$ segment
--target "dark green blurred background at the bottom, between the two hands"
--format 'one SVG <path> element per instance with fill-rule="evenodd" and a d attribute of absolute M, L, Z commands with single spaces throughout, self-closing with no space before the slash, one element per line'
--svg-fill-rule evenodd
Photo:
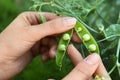
<path fill-rule="evenodd" d="M 40 56 L 36 57 L 31 64 L 21 74 L 13 80 L 61 80 L 73 68 L 68 58 L 63 61 L 64 66 L 60 70 L 56 66 L 55 60 L 42 62 Z"/>

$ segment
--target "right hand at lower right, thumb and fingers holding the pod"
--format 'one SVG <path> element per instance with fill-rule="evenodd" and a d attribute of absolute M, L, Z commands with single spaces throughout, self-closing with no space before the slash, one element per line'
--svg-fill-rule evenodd
<path fill-rule="evenodd" d="M 111 80 L 98 54 L 94 53 L 83 59 L 72 44 L 68 46 L 67 52 L 75 68 L 62 80 L 93 80 L 92 76 L 98 74 L 103 74 L 109 78 L 107 80 Z"/>

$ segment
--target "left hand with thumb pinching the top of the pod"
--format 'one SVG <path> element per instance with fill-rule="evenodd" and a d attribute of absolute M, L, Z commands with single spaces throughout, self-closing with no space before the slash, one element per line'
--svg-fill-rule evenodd
<path fill-rule="evenodd" d="M 45 37 L 68 31 L 76 23 L 71 17 L 58 17 L 52 13 L 42 15 L 47 19 L 43 24 L 37 12 L 22 13 L 0 34 L 0 80 L 18 74 L 39 53 L 46 60 L 56 42 L 54 36 Z M 45 40 L 53 43 L 46 45 Z"/>

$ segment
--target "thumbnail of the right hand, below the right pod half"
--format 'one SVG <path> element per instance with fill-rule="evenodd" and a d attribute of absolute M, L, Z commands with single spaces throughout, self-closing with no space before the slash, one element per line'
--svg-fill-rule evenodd
<path fill-rule="evenodd" d="M 85 61 L 88 63 L 88 64 L 96 64 L 98 62 L 98 60 L 100 59 L 99 55 L 94 53 L 94 54 L 91 54 L 89 55 Z"/>

